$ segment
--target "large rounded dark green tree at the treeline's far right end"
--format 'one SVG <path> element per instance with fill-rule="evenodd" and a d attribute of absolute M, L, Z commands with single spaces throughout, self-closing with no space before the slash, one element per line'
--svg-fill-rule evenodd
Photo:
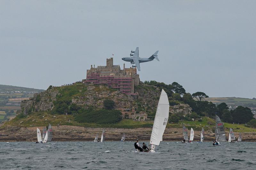
<path fill-rule="evenodd" d="M 231 111 L 234 123 L 247 123 L 253 119 L 253 114 L 250 108 L 238 106 L 235 110 Z"/>

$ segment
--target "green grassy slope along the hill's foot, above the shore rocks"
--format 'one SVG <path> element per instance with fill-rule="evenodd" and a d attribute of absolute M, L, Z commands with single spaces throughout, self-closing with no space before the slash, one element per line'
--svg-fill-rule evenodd
<path fill-rule="evenodd" d="M 43 117 L 44 116 L 44 117 Z M 56 116 L 56 117 L 54 117 Z M 45 120 L 47 119 L 47 120 Z M 20 123 L 21 122 L 21 123 Z M 22 126 L 22 127 L 35 127 L 35 126 L 46 126 L 49 123 L 52 125 L 72 125 L 72 126 L 82 126 L 82 127 L 91 127 L 91 128 L 151 128 L 153 126 L 153 121 L 133 121 L 128 119 L 123 119 L 115 124 L 96 124 L 96 123 L 77 123 L 74 121 L 73 115 L 59 115 L 59 114 L 49 114 L 47 112 L 37 112 L 32 113 L 29 117 L 24 118 L 14 118 L 11 121 L 8 121 L 4 126 Z M 167 124 L 167 128 L 182 128 L 182 124 L 190 129 L 201 130 L 204 128 L 208 130 L 210 128 L 214 129 L 215 120 L 203 117 L 203 121 L 179 121 L 179 124 Z M 210 127 L 205 127 L 210 126 Z M 225 131 L 229 131 L 229 128 L 233 128 L 234 132 L 252 132 L 253 128 L 247 128 L 244 124 L 230 124 L 225 123 Z M 236 129 L 239 128 L 239 129 Z"/>

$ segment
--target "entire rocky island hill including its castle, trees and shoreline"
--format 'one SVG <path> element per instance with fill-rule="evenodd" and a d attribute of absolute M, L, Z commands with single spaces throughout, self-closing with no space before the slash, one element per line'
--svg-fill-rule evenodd
<path fill-rule="evenodd" d="M 229 111 L 225 103 L 216 106 L 203 101 L 208 97 L 203 92 L 186 93 L 177 82 L 169 85 L 156 81 L 143 83 L 136 68 L 124 65 L 121 69 L 109 58 L 106 66 L 91 65 L 83 81 L 49 86 L 44 92 L 23 100 L 17 116 L 0 127 L 0 141 L 36 140 L 36 128 L 42 131 L 49 123 L 53 126 L 53 141 L 91 141 L 103 128 L 106 128 L 106 140 L 120 140 L 123 133 L 127 140 L 149 140 L 162 89 L 170 103 L 165 140 L 183 139 L 182 125 L 185 124 L 188 129 L 194 129 L 195 140 L 204 128 L 205 139 L 212 141 L 215 113 L 227 122 L 227 134 L 229 128 L 233 128 L 235 134 L 245 133 L 244 140 L 256 139 L 256 122 L 249 108 L 239 106 Z"/>

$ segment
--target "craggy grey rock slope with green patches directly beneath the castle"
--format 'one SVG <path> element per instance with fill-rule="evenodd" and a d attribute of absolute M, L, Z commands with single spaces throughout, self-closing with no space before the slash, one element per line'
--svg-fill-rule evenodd
<path fill-rule="evenodd" d="M 54 101 L 61 97 L 71 101 L 71 104 L 83 107 L 103 107 L 103 101 L 110 99 L 115 102 L 116 108 L 137 107 L 137 102 L 146 104 L 148 108 L 155 109 L 160 90 L 155 86 L 140 83 L 135 88 L 136 96 L 126 95 L 118 90 L 110 89 L 104 85 L 73 84 L 69 86 L 51 87 L 44 92 L 34 94 L 34 97 L 21 102 L 21 112 L 26 115 L 31 112 L 51 111 Z M 67 95 L 68 94 L 68 95 Z M 152 110 L 153 110 L 152 109 Z"/>

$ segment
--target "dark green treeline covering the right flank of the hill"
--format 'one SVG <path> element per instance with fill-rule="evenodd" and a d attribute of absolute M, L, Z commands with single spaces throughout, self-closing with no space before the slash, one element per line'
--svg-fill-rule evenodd
<path fill-rule="evenodd" d="M 192 118 L 196 119 L 200 116 L 208 116 L 215 119 L 215 114 L 220 116 L 225 122 L 228 123 L 247 123 L 253 126 L 253 114 L 250 108 L 238 106 L 235 110 L 228 110 L 228 105 L 226 103 L 221 103 L 219 105 L 215 105 L 212 102 L 203 101 L 202 99 L 208 98 L 204 92 L 195 92 L 192 95 L 190 93 L 186 93 L 186 90 L 177 82 L 173 82 L 172 84 L 165 84 L 163 82 L 157 81 L 145 81 L 145 84 L 154 85 L 158 87 L 160 90 L 164 89 L 164 91 L 168 95 L 170 105 L 177 104 L 189 104 L 192 108 L 192 114 L 183 116 L 182 114 L 170 115 L 171 122 L 178 122 L 178 120 L 191 120 Z M 196 100 L 194 100 L 194 98 Z M 252 120 L 252 122 L 251 122 Z M 256 121 L 256 120 L 255 120 Z"/>

